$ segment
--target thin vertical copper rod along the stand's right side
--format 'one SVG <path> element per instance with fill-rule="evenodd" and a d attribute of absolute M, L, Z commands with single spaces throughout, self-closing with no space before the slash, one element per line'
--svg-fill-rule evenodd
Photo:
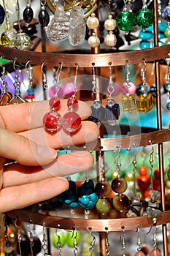
<path fill-rule="evenodd" d="M 154 0 L 154 46 L 158 46 L 158 0 Z M 159 61 L 155 61 L 155 86 L 157 89 L 157 126 L 158 129 L 162 129 L 162 113 L 161 113 L 161 81 L 160 81 L 160 64 Z M 164 182 L 164 167 L 163 167 L 163 143 L 158 143 L 159 154 L 159 170 L 160 170 L 160 182 L 161 182 L 161 205 L 162 211 L 166 210 L 166 197 L 165 197 L 165 182 Z M 167 246 L 167 227 L 162 225 L 163 233 L 163 254 L 168 256 Z"/>

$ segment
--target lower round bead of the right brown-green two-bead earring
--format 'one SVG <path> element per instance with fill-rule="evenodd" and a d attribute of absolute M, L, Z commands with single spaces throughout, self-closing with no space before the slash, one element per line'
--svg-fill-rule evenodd
<path fill-rule="evenodd" d="M 124 211 L 128 208 L 128 197 L 124 194 L 115 195 L 112 203 L 117 211 Z"/>

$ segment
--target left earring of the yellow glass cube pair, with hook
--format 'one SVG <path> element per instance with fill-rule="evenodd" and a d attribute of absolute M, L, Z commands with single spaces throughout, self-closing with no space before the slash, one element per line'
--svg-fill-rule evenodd
<path fill-rule="evenodd" d="M 130 69 L 129 69 L 128 61 L 125 61 L 125 69 L 126 69 L 125 82 L 126 82 L 127 93 L 122 97 L 122 105 L 123 105 L 124 111 L 128 111 L 129 113 L 131 113 L 132 110 L 136 110 L 136 101 L 135 101 L 134 94 L 129 94 L 129 88 L 131 87 L 131 84 L 130 84 Z"/>

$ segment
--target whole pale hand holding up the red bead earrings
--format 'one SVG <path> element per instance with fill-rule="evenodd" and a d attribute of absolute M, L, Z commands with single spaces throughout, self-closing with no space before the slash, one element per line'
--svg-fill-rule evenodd
<path fill-rule="evenodd" d="M 82 118 L 82 126 L 72 136 L 63 129 L 55 134 L 45 132 L 42 118 L 49 110 L 46 101 L 0 107 L 1 213 L 55 197 L 68 189 L 66 176 L 93 167 L 93 156 L 80 147 L 74 153 L 58 156 L 56 151 L 88 142 L 96 146 L 98 127 L 83 121 L 90 115 L 88 105 L 79 102 L 77 113 Z M 66 111 L 63 99 L 58 112 L 63 116 Z"/>

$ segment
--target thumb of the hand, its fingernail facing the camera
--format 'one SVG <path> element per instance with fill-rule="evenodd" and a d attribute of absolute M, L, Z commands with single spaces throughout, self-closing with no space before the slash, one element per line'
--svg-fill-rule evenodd
<path fill-rule="evenodd" d="M 37 145 L 28 138 L 0 128 L 0 156 L 23 165 L 46 165 L 57 157 L 53 148 Z"/>

